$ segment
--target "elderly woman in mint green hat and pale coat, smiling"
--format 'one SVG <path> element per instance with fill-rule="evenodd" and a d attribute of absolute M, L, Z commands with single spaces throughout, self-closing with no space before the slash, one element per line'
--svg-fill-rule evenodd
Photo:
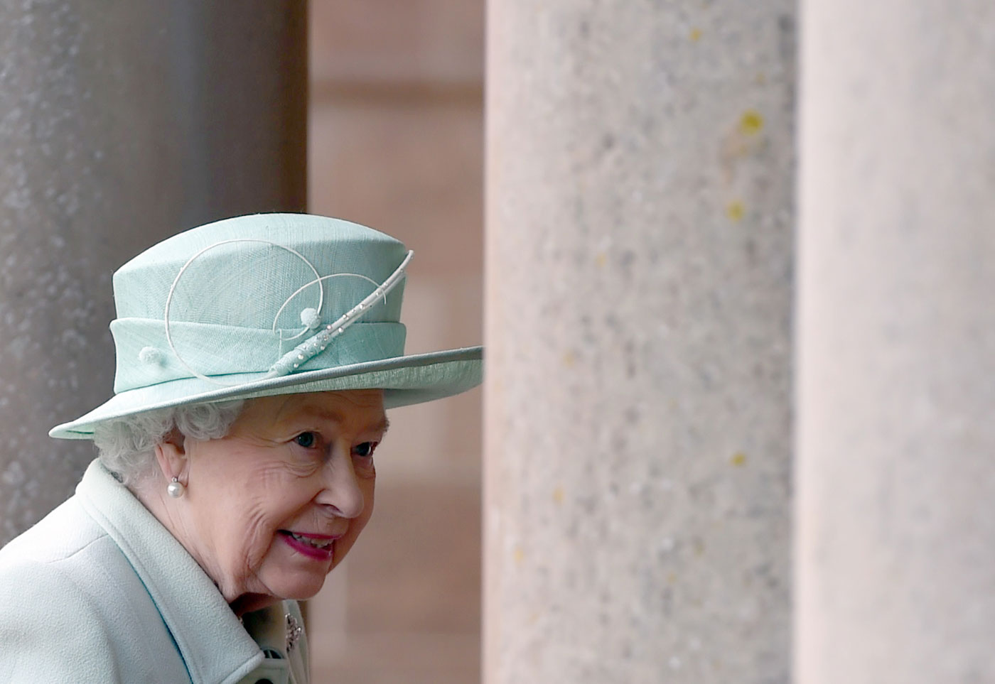
<path fill-rule="evenodd" d="M 100 458 L 0 551 L 0 679 L 308 680 L 296 601 L 370 517 L 384 410 L 480 382 L 480 348 L 404 356 L 410 258 L 276 214 L 114 274 L 114 397 L 51 432 Z"/>

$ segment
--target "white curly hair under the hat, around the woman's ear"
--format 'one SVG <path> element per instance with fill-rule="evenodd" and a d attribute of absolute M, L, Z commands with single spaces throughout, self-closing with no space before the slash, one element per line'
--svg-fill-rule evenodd
<path fill-rule="evenodd" d="M 155 445 L 174 429 L 194 439 L 218 439 L 228 434 L 244 405 L 243 400 L 189 404 L 101 423 L 94 428 L 100 462 L 124 484 L 137 484 L 154 472 Z"/>

